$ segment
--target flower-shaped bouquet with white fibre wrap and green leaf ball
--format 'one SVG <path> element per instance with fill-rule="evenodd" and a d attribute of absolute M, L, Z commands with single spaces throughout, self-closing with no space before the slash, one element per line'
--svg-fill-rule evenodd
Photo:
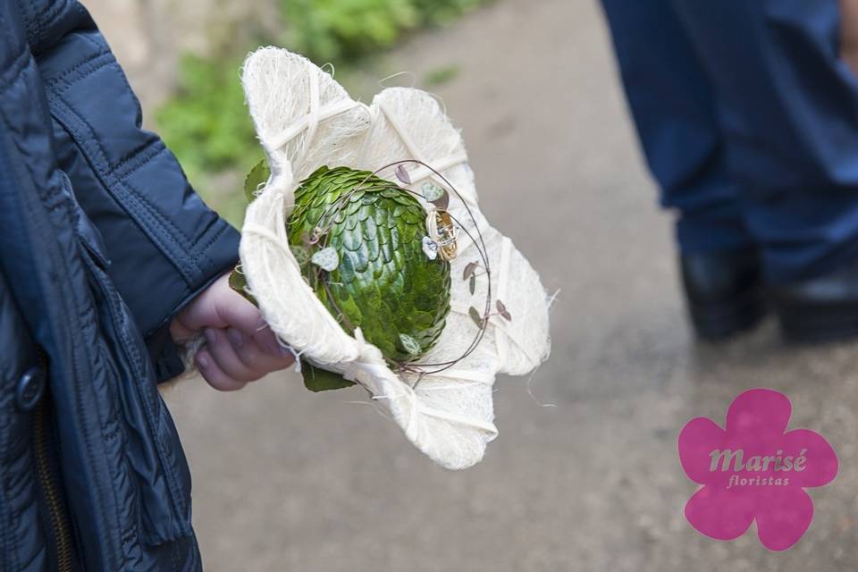
<path fill-rule="evenodd" d="M 495 376 L 549 355 L 549 299 L 480 212 L 458 130 L 425 92 L 365 105 L 284 49 L 249 55 L 242 82 L 266 158 L 233 288 L 307 388 L 360 385 L 436 463 L 474 465 L 497 435 Z"/>

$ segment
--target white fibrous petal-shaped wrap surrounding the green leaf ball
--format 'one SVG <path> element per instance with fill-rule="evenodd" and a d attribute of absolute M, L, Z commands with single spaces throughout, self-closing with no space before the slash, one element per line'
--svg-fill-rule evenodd
<path fill-rule="evenodd" d="M 495 375 L 526 374 L 551 349 L 548 307 L 539 276 L 512 241 L 493 229 L 479 211 L 474 173 L 458 130 L 430 95 L 412 88 L 389 88 L 372 105 L 353 101 L 332 77 L 300 55 L 264 47 L 248 56 L 242 82 L 250 115 L 265 148 L 271 178 L 248 206 L 240 255 L 248 288 L 281 340 L 311 363 L 344 374 L 372 393 L 408 440 L 442 467 L 470 467 L 483 458 L 497 435 L 493 425 Z M 483 233 L 492 268 L 492 308 L 501 299 L 512 322 L 489 318 L 484 339 L 455 366 L 438 374 L 397 374 L 358 329 L 345 332 L 300 273 L 286 236 L 295 189 L 322 165 L 375 171 L 404 159 L 417 159 L 441 172 L 463 200 L 450 193 L 448 211 L 476 237 L 474 215 Z M 419 192 L 424 181 L 447 188 L 431 170 L 406 164 Z M 393 168 L 380 172 L 396 181 Z M 422 204 L 433 211 L 432 204 Z M 461 356 L 478 327 L 468 308 L 484 307 L 486 280 L 475 293 L 461 279 L 465 266 L 479 260 L 465 232 L 458 257 L 450 263 L 450 315 L 438 343 L 424 363 Z"/>

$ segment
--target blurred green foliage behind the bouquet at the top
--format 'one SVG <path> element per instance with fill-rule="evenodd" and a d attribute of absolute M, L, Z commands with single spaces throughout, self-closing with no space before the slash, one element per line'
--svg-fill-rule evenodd
<path fill-rule="evenodd" d="M 186 55 L 174 97 L 156 111 L 157 128 L 190 181 L 211 206 L 239 225 L 244 200 L 223 187 L 221 173 L 247 172 L 261 156 L 239 81 L 241 60 L 258 45 L 277 44 L 315 63 L 334 63 L 338 77 L 394 46 L 409 31 L 443 25 L 487 0 L 269 0 L 282 18 L 279 37 L 253 46 L 229 41 L 216 54 Z M 445 70 L 451 79 L 455 69 Z M 232 177 L 235 181 L 238 178 Z M 225 177 L 229 186 L 231 178 Z M 238 189 L 238 186 L 236 186 Z"/>

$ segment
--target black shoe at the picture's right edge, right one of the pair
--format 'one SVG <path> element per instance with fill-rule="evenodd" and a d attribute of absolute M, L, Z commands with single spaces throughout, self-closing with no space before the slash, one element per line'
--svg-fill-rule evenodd
<path fill-rule="evenodd" d="M 858 336 L 858 264 L 787 285 L 771 299 L 788 341 L 837 341 Z"/>

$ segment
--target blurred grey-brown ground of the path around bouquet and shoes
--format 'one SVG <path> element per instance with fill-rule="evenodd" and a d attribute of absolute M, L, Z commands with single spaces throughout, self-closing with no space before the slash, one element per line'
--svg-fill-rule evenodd
<path fill-rule="evenodd" d="M 109 32 L 109 30 L 108 30 Z M 313 572 L 833 572 L 858 567 L 858 348 L 792 349 L 766 324 L 722 348 L 684 322 L 669 220 L 653 206 L 594 2 L 501 0 L 415 38 L 392 69 L 458 64 L 437 88 L 484 211 L 551 289 L 551 361 L 497 383 L 501 434 L 462 473 L 433 465 L 359 391 L 298 374 L 238 394 L 168 395 L 195 476 L 206 568 Z M 677 433 L 744 389 L 793 400 L 840 475 L 810 531 L 771 553 L 686 524 Z M 555 407 L 542 407 L 551 404 Z"/>

